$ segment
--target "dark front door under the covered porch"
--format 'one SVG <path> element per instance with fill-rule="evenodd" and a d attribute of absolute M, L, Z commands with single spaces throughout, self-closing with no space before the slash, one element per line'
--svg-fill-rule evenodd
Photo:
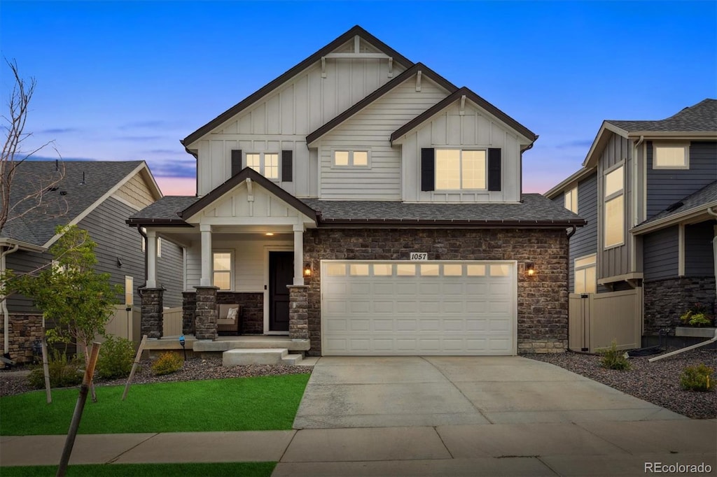
<path fill-rule="evenodd" d="M 289 289 L 294 252 L 269 252 L 269 331 L 289 331 Z"/>

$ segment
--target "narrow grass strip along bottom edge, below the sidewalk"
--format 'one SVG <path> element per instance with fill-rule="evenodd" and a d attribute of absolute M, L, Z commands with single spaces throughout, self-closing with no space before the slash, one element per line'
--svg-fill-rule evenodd
<path fill-rule="evenodd" d="M 67 466 L 68 477 L 95 476 L 242 476 L 269 477 L 275 462 L 172 463 L 172 464 L 93 464 Z M 3 477 L 54 476 L 57 466 L 3 467 Z"/>

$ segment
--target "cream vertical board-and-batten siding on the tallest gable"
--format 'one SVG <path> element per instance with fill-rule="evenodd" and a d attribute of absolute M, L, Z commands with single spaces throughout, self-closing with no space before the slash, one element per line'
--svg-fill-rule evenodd
<path fill-rule="evenodd" d="M 336 52 L 353 48 L 353 40 Z M 361 52 L 376 49 L 361 40 Z M 326 77 L 320 62 L 297 74 L 247 110 L 227 120 L 197 141 L 199 196 L 231 176 L 231 150 L 246 153 L 294 151 L 294 180 L 280 186 L 297 197 L 318 196 L 317 163 L 306 148 L 305 137 L 405 70 L 376 58 L 326 59 Z M 244 162 L 245 165 L 245 162 Z"/>

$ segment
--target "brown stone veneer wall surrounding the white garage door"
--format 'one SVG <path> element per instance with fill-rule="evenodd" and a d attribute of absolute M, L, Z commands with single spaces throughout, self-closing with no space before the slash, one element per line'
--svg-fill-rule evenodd
<path fill-rule="evenodd" d="M 304 234 L 310 356 L 321 354 L 321 260 L 518 261 L 518 353 L 564 352 L 568 342 L 568 239 L 564 229 L 312 229 Z M 523 264 L 533 261 L 536 276 Z"/>

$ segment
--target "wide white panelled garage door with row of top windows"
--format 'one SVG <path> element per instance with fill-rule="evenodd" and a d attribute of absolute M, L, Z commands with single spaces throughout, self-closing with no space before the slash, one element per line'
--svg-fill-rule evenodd
<path fill-rule="evenodd" d="M 323 355 L 515 355 L 515 261 L 321 262 Z"/>

